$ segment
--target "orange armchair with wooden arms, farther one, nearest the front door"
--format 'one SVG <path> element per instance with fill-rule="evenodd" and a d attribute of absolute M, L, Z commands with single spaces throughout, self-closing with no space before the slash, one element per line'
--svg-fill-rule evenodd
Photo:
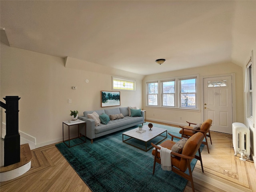
<path fill-rule="evenodd" d="M 209 151 L 209 146 L 208 146 L 208 142 L 207 142 L 207 137 L 210 138 L 211 144 L 212 144 L 212 138 L 211 138 L 211 134 L 210 134 L 210 127 L 212 126 L 212 120 L 211 119 L 207 119 L 206 121 L 204 121 L 200 127 L 200 130 L 194 130 L 192 126 L 190 126 L 191 124 L 196 125 L 195 123 L 190 123 L 187 122 L 188 126 L 180 126 L 180 128 L 182 128 L 180 130 L 180 134 L 183 138 L 190 138 L 192 135 L 194 135 L 194 132 L 201 132 L 204 134 L 204 138 L 205 141 L 202 142 L 202 144 L 207 146 L 207 150 L 208 153 L 210 153 Z M 194 132 L 193 132 L 194 131 Z"/>

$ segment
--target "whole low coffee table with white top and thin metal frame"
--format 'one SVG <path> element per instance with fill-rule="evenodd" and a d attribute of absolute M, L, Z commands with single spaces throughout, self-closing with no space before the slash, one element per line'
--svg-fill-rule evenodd
<path fill-rule="evenodd" d="M 150 149 L 153 148 L 153 146 L 151 147 L 147 147 L 147 143 L 160 136 L 160 137 L 163 137 L 162 140 L 158 141 L 157 143 L 154 143 L 154 144 L 159 144 L 160 142 L 162 142 L 163 140 L 165 140 L 167 138 L 167 129 L 163 129 L 163 128 L 158 128 L 158 127 L 153 127 L 152 130 L 149 130 L 148 126 L 147 125 L 144 125 L 143 130 L 145 130 L 145 132 L 136 132 L 136 130 L 139 130 L 139 128 L 135 128 L 135 129 L 132 129 L 132 130 L 129 130 L 129 131 L 126 131 L 126 132 L 123 132 L 122 135 L 123 135 L 123 142 L 128 144 L 128 145 L 131 145 L 133 147 L 136 147 L 140 150 L 143 150 L 143 151 L 148 151 Z M 164 135 L 162 135 L 164 134 Z M 128 139 L 125 139 L 124 140 L 124 136 L 128 136 Z M 140 140 L 142 142 L 145 143 L 145 148 L 141 148 L 139 146 L 136 146 L 134 142 L 127 142 L 128 140 L 130 139 L 136 139 L 136 140 Z"/>

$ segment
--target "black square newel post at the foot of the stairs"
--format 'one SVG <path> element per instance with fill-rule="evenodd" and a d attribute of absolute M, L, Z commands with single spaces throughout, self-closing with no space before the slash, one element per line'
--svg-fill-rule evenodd
<path fill-rule="evenodd" d="M 4 166 L 20 162 L 19 100 L 6 96 L 6 136 L 4 137 Z"/>

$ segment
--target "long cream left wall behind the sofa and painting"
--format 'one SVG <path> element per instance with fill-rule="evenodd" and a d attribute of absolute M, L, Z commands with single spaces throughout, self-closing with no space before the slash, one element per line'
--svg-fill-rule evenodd
<path fill-rule="evenodd" d="M 142 75 L 86 62 L 81 65 L 81 61 L 78 65 L 72 59 L 65 67 L 64 58 L 2 43 L 0 61 L 1 101 L 5 96 L 21 97 L 19 130 L 36 138 L 36 148 L 62 141 L 62 122 L 70 120 L 70 110 L 78 110 L 82 116 L 85 110 L 101 109 L 100 91 L 112 90 L 112 75 L 136 80 L 135 92 L 121 91 L 121 107 L 142 106 Z"/>

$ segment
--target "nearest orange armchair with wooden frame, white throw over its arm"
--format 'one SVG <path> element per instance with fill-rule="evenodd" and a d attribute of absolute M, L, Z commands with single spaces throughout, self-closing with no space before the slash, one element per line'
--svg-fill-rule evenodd
<path fill-rule="evenodd" d="M 174 144 L 176 144 L 173 141 L 173 138 L 174 137 L 179 138 L 179 139 L 182 139 L 182 138 L 174 136 L 170 133 L 168 133 L 168 134 L 170 136 L 172 136 L 172 140 L 166 140 L 165 142 L 163 142 L 160 145 L 162 147 L 165 147 L 165 148 L 168 148 L 171 150 L 172 146 Z M 171 162 L 172 162 L 172 171 L 175 172 L 176 174 L 182 176 L 186 180 L 189 180 L 191 182 L 193 192 L 195 190 L 194 190 L 194 182 L 193 182 L 193 178 L 192 178 L 192 170 L 191 170 L 190 163 L 191 163 L 192 159 L 194 159 L 194 158 L 200 160 L 202 172 L 204 172 L 202 158 L 201 158 L 201 152 L 200 152 L 200 145 L 201 145 L 203 139 L 204 139 L 204 134 L 202 134 L 200 132 L 194 134 L 187 140 L 186 144 L 183 147 L 181 154 L 172 151 L 171 154 L 175 155 L 175 157 L 170 156 Z M 160 147 L 156 146 L 153 143 L 151 143 L 151 145 L 155 147 L 155 149 L 152 150 L 152 155 L 154 156 L 154 167 L 153 167 L 153 174 L 154 174 L 156 162 L 161 164 L 161 158 L 160 158 L 160 152 L 159 152 Z M 197 151 L 199 153 L 199 156 L 196 155 Z M 189 174 L 185 173 L 185 171 L 187 169 L 189 171 Z"/>

